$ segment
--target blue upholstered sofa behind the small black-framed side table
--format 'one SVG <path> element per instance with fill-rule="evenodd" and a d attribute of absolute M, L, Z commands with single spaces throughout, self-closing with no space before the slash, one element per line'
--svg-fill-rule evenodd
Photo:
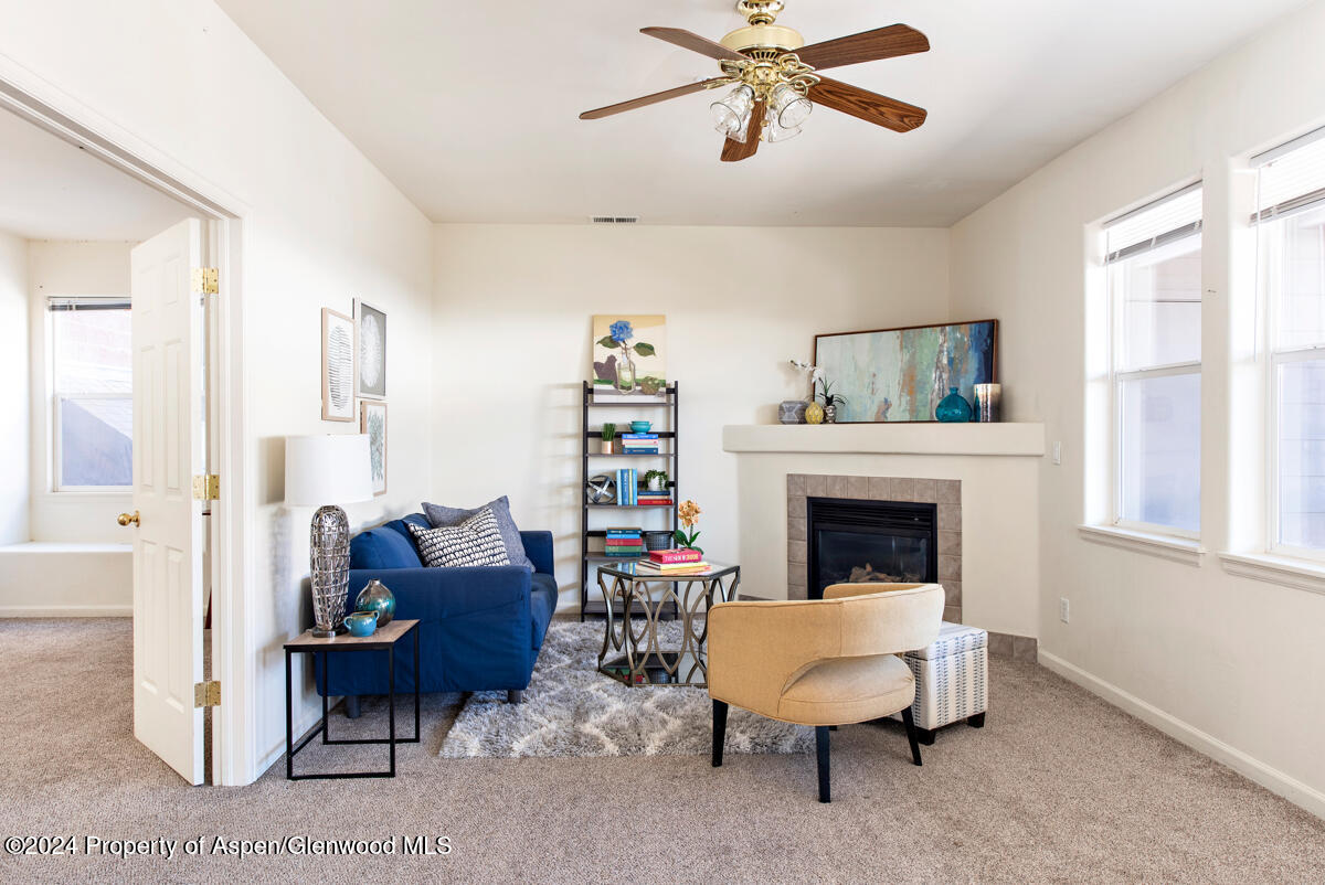
<path fill-rule="evenodd" d="M 407 522 L 429 525 L 415 513 L 350 541 L 346 611 L 354 609 L 359 591 L 376 578 L 395 594 L 396 617 L 420 621 L 423 692 L 506 692 L 518 703 L 556 611 L 553 533 L 519 533 L 533 574 L 522 566 L 428 568 Z M 346 696 L 346 711 L 358 715 L 358 696 L 387 693 L 386 654 L 315 656 L 318 692 Z M 413 692 L 412 641 L 398 645 L 395 669 L 396 693 Z"/>

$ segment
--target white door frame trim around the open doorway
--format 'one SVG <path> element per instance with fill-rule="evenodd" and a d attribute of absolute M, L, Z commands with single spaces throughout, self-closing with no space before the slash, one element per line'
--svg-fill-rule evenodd
<path fill-rule="evenodd" d="M 212 470 L 221 477 L 220 499 L 212 505 L 208 541 L 212 551 L 212 678 L 221 682 L 221 705 L 212 717 L 212 766 L 209 782 L 219 786 L 252 783 L 257 770 L 257 653 L 256 639 L 245 617 L 252 604 L 253 546 L 246 534 L 248 518 L 257 499 L 250 465 L 256 445 L 244 421 L 246 380 L 244 372 L 242 252 L 249 207 L 175 158 L 151 147 L 132 132 L 102 118 L 91 109 L 30 72 L 0 56 L 0 107 L 83 148 L 139 182 L 192 208 L 204 221 L 204 249 L 219 269 L 220 291 L 208 330 L 212 347 L 209 393 L 225 408 L 208 404 Z"/>

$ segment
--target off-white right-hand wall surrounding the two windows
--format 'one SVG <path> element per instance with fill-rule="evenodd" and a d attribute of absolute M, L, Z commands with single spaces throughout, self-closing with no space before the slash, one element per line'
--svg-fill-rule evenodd
<path fill-rule="evenodd" d="M 1228 158 L 1325 122 L 1325 4 L 1276 25 L 1044 167 L 953 229 L 953 314 L 996 315 L 1006 405 L 1064 443 L 1040 468 L 1041 661 L 1059 666 L 1244 774 L 1325 813 L 1325 596 L 1226 574 L 1248 550 L 1239 489 L 1259 436 L 1255 397 L 1230 403 L 1228 354 L 1252 323 L 1246 253 L 1231 252 L 1248 176 Z M 1175 184 L 1206 182 L 1199 566 L 1084 541 L 1086 225 Z M 1246 217 L 1243 215 L 1242 217 Z M 1246 246 L 1244 242 L 1240 242 Z M 1234 338 L 1239 335 L 1239 338 Z M 1252 384 L 1252 388 L 1256 386 Z M 1230 429 L 1232 428 L 1232 429 Z M 1243 497 L 1253 501 L 1255 494 Z M 1090 507 L 1093 510 L 1093 507 Z M 1071 624 L 1057 617 L 1071 599 Z"/>

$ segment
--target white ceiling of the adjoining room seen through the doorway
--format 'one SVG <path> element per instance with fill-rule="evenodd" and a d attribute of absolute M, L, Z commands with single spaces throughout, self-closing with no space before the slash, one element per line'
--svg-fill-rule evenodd
<path fill-rule="evenodd" d="M 164 193 L 0 110 L 0 231 L 25 240 L 138 242 L 188 215 Z"/>

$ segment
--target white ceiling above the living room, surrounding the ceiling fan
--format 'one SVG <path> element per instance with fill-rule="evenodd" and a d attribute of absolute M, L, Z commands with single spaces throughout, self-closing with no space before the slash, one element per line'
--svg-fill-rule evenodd
<path fill-rule="evenodd" d="M 1304 0 L 787 0 L 807 42 L 894 21 L 931 52 L 833 77 L 929 110 L 898 135 L 819 109 L 719 163 L 712 93 L 592 107 L 714 76 L 637 33 L 717 40 L 735 0 L 219 0 L 436 221 L 949 225 Z"/>

